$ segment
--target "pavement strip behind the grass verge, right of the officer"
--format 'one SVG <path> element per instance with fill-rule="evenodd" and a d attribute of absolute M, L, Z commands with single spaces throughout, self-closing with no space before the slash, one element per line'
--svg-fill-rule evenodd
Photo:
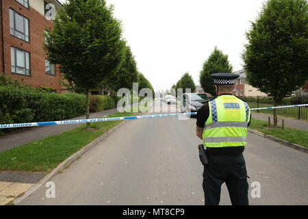
<path fill-rule="evenodd" d="M 261 114 L 257 112 L 252 113 L 253 118 L 257 118 L 259 120 L 263 120 L 268 122 L 268 117 L 270 117 L 270 123 L 273 125 L 274 124 L 274 117 L 269 114 Z M 292 119 L 292 118 L 287 118 L 284 116 L 278 116 L 278 124 L 281 125 L 281 120 L 285 120 L 285 127 L 292 127 L 296 129 L 301 129 L 308 131 L 308 121 L 306 120 L 298 120 L 298 119 Z"/>

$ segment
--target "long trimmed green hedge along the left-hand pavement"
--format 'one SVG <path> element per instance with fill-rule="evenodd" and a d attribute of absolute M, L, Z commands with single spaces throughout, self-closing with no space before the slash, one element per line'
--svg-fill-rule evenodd
<path fill-rule="evenodd" d="M 91 112 L 116 107 L 112 96 L 90 96 Z M 86 95 L 40 92 L 31 87 L 0 86 L 0 124 L 64 120 L 86 112 Z M 0 129 L 0 134 L 3 131 Z"/>

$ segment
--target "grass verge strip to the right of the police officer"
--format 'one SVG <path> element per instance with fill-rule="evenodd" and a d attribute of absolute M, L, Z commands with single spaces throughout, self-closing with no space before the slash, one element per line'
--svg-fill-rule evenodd
<path fill-rule="evenodd" d="M 281 126 L 279 126 L 278 129 L 270 129 L 268 128 L 268 122 L 255 118 L 251 118 L 251 125 L 249 128 L 308 148 L 308 131 L 290 127 L 285 127 L 285 129 L 282 130 Z"/>

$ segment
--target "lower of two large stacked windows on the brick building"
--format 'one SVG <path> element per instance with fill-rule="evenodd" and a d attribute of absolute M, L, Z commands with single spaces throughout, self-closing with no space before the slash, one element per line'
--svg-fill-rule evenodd
<path fill-rule="evenodd" d="M 29 53 L 15 47 L 11 47 L 11 71 L 21 75 L 30 75 Z"/>

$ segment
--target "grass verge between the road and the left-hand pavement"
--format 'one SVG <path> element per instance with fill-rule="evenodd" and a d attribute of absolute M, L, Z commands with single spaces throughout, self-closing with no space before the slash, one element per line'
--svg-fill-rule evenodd
<path fill-rule="evenodd" d="M 116 113 L 109 117 L 131 116 L 133 113 Z M 86 144 L 101 136 L 121 120 L 91 123 L 94 131 L 83 131 L 86 125 L 17 146 L 0 153 L 0 171 L 20 170 L 30 172 L 51 172 L 58 164 Z"/>

